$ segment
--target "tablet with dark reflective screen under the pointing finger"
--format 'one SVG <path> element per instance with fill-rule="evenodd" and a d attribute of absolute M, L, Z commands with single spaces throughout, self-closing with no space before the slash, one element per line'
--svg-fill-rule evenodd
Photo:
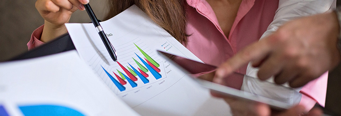
<path fill-rule="evenodd" d="M 181 69 L 184 73 L 188 74 L 199 85 L 201 85 L 204 88 L 208 88 L 212 90 L 213 92 L 219 93 L 221 95 L 237 98 L 237 99 L 247 100 L 250 102 L 265 103 L 265 104 L 268 104 L 272 109 L 278 110 L 278 111 L 286 110 L 292 106 L 292 104 L 289 104 L 289 103 L 285 103 L 279 100 L 263 97 L 260 95 L 255 95 L 249 92 L 236 89 L 236 86 L 233 81 L 230 81 L 230 83 L 226 83 L 226 85 L 220 85 L 220 84 L 213 83 L 207 80 L 199 79 L 197 78 L 198 75 L 203 74 L 205 72 L 212 72 L 217 67 L 213 65 L 208 65 L 208 64 L 201 63 L 201 62 L 193 61 L 190 59 L 186 59 L 184 57 L 176 56 L 173 54 L 165 53 L 162 51 L 157 51 L 157 52 L 166 60 L 168 60 L 171 64 Z M 237 73 L 237 72 L 232 73 L 226 78 L 227 80 L 228 78 L 231 78 L 231 79 L 248 78 L 248 79 L 253 79 L 255 81 L 258 81 L 259 83 L 272 84 L 273 86 L 276 86 L 276 87 L 282 87 L 287 90 L 295 91 L 293 88 L 285 87 L 285 86 L 278 85 L 275 83 L 270 83 L 267 81 L 261 81 L 257 78 L 249 77 L 244 74 Z"/>

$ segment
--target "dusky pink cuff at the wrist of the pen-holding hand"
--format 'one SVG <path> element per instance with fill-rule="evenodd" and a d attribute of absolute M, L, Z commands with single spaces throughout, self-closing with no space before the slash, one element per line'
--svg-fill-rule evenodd
<path fill-rule="evenodd" d="M 38 29 L 33 31 L 31 35 L 31 40 L 27 43 L 28 50 L 31 50 L 42 44 L 45 44 L 44 42 L 40 41 L 40 37 L 42 36 L 43 29 L 44 29 L 44 25 L 40 26 Z"/>

